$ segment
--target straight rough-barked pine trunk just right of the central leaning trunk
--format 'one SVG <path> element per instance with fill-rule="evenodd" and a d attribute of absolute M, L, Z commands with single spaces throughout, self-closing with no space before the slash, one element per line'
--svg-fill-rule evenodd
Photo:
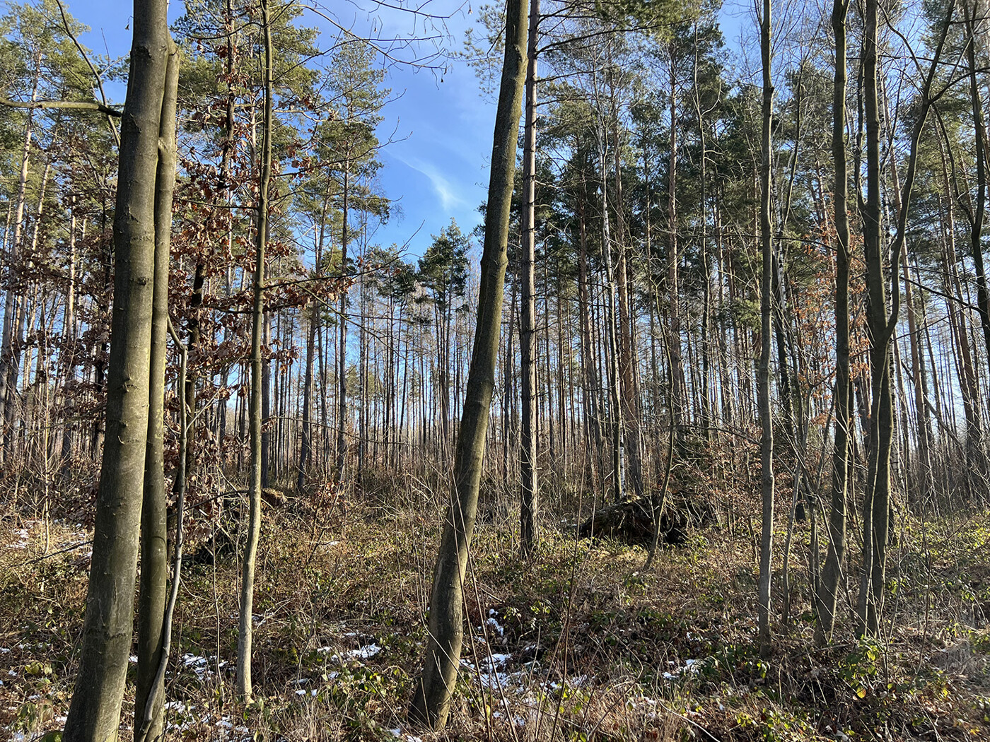
<path fill-rule="evenodd" d="M 520 282 L 523 288 L 522 322 L 519 324 L 519 348 L 522 376 L 522 441 L 519 449 L 520 542 L 524 559 L 532 556 L 539 539 L 537 518 L 540 491 L 537 478 L 537 436 L 534 430 L 537 399 L 537 302 L 534 262 L 536 261 L 536 194 L 537 194 L 537 36 L 540 25 L 540 0 L 530 0 L 530 28 L 527 42 L 526 119 L 523 133 L 523 210 L 520 232 L 523 244 Z"/>

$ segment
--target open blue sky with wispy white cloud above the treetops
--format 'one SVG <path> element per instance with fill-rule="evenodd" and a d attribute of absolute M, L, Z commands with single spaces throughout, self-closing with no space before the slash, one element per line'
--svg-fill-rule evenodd
<path fill-rule="evenodd" d="M 346 28 L 364 36 L 381 38 L 426 36 L 442 24 L 448 37 L 440 44 L 459 50 L 464 31 L 473 23 L 470 5 L 464 0 L 417 0 L 417 5 L 446 21 L 429 22 L 410 13 L 379 6 L 374 0 L 324 0 L 328 14 Z M 304 2 L 305 4 L 305 2 Z M 121 56 L 131 46 L 128 29 L 132 6 L 127 0 L 76 0 L 70 12 L 92 30 L 81 42 L 98 53 Z M 169 20 L 183 12 L 181 2 L 172 0 Z M 722 13 L 726 41 L 737 46 L 740 31 L 749 25 L 747 6 L 727 3 Z M 324 31 L 322 45 L 329 46 L 336 29 L 314 13 L 306 13 L 301 23 Z M 423 46 L 421 53 L 429 53 Z M 397 51 L 405 59 L 416 49 Z M 408 251 L 422 254 L 430 235 L 440 232 L 453 218 L 468 232 L 480 221 L 478 205 L 488 184 L 488 164 L 494 128 L 495 106 L 479 93 L 473 70 L 463 61 L 453 60 L 443 75 L 411 65 L 393 64 L 385 85 L 393 101 L 384 110 L 380 139 L 395 139 L 382 151 L 384 168 L 381 183 L 385 194 L 396 199 L 402 211 L 376 232 L 373 241 L 389 245 L 408 242 Z M 122 100 L 123 88 L 108 91 Z"/>

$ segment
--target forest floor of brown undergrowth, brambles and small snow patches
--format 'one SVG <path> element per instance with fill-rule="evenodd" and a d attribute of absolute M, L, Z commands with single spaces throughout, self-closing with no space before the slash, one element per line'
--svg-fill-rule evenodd
<path fill-rule="evenodd" d="M 774 654 L 761 660 L 753 497 L 726 507 L 729 522 L 664 548 L 648 572 L 641 547 L 575 540 L 579 504 L 567 498 L 545 513 L 530 564 L 517 556 L 511 514 L 485 517 L 447 731 L 413 729 L 405 709 L 440 516 L 414 480 L 400 484 L 347 507 L 314 496 L 265 511 L 249 707 L 233 693 L 234 550 L 221 543 L 213 560 L 204 522 L 192 524 L 167 739 L 990 740 L 990 513 L 899 517 L 886 640 L 856 642 L 845 613 L 825 649 L 812 640 L 809 532 L 799 523 L 791 620 L 778 613 Z M 0 512 L 0 737 L 31 740 L 60 728 L 68 709 L 91 531 L 21 510 Z M 122 740 L 133 691 L 129 683 Z"/>

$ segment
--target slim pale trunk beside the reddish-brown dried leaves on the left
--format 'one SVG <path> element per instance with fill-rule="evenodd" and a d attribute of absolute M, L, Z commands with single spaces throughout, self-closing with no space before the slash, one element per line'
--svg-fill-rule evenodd
<path fill-rule="evenodd" d="M 254 306 L 250 333 L 250 504 L 247 544 L 241 575 L 241 623 L 238 629 L 237 692 L 251 697 L 251 613 L 254 604 L 254 564 L 261 533 L 261 332 L 264 321 L 264 250 L 268 238 L 268 184 L 271 181 L 271 28 L 268 0 L 261 0 L 261 28 L 264 34 L 264 113 L 261 123 L 261 172 L 257 189 L 257 233 L 254 238 Z"/>

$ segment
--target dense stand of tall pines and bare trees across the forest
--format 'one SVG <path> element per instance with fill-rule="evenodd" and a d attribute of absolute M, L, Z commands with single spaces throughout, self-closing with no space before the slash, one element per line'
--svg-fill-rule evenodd
<path fill-rule="evenodd" d="M 163 8 L 136 5 L 135 48 L 154 53 L 132 58 L 123 112 L 102 96 L 123 69 L 75 43 L 56 0 L 3 21 L 2 487 L 40 510 L 95 494 L 93 574 L 114 575 L 90 585 L 66 738 L 116 729 L 132 606 L 101 591 L 130 595 L 142 493 L 136 729 L 160 734 L 166 480 L 199 522 L 249 495 L 248 697 L 263 492 L 350 497 L 410 469 L 434 482 L 446 526 L 412 706 L 432 726 L 457 672 L 479 490 L 486 507 L 521 493 L 521 549 L 539 558 L 548 499 L 644 498 L 658 518 L 672 467 L 716 489 L 760 482 L 765 652 L 778 599 L 788 618 L 795 517 L 826 642 L 881 633 L 900 510 L 985 506 L 976 0 L 919 19 L 764 0 L 749 75 L 714 5 L 481 13 L 501 60 L 484 228 L 451 220 L 409 252 L 375 237 L 399 195 L 378 179 L 380 49 L 342 33 L 328 51 L 293 3 L 189 0 L 171 51 Z M 925 33 L 902 32 L 911 20 Z M 95 493 L 78 487 L 97 473 Z M 794 493 L 776 509 L 783 591 L 775 478 Z"/>

